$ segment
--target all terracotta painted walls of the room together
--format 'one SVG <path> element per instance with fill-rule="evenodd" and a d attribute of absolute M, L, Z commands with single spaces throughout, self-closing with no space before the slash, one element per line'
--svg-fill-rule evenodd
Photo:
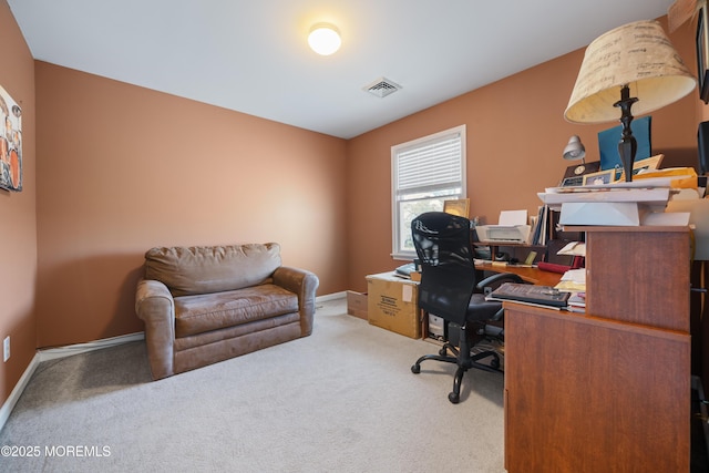
<path fill-rule="evenodd" d="M 568 165 L 568 136 L 590 161 L 613 126 L 563 120 L 583 51 L 345 142 L 34 62 L 4 0 L 0 40 L 24 135 L 24 191 L 0 192 L 0 338 L 12 337 L 0 403 L 37 348 L 142 330 L 133 295 L 152 246 L 276 240 L 285 264 L 320 276 L 318 294 L 363 290 L 367 274 L 398 264 L 392 145 L 465 123 L 471 212 L 493 222 L 536 209 Z M 693 69 L 693 25 L 672 41 Z M 692 94 L 653 114 L 666 163 L 693 164 L 706 111 Z"/>

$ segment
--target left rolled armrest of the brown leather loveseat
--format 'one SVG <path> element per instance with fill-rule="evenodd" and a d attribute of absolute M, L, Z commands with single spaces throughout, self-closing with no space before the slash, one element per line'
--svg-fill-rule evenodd
<path fill-rule="evenodd" d="M 153 379 L 174 374 L 175 302 L 167 286 L 157 280 L 141 280 L 135 291 L 135 313 L 145 322 Z"/>

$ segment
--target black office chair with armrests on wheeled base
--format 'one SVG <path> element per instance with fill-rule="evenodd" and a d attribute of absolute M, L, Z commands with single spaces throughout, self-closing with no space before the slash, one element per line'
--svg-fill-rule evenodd
<path fill-rule="evenodd" d="M 459 347 L 450 341 L 445 342 L 439 354 L 419 358 L 411 371 L 420 373 L 421 362 L 424 360 L 456 363 L 453 391 L 448 395 L 456 404 L 465 371 L 477 368 L 501 372 L 497 352 L 482 351 L 471 356 L 471 340 L 484 338 L 487 333 L 500 339 L 504 336 L 504 330 L 500 327 L 486 330 L 486 322 L 501 321 L 504 311 L 502 302 L 485 300 L 485 288 L 492 289 L 504 281 L 523 280 L 517 275 L 501 273 L 477 282 L 467 218 L 443 212 L 429 212 L 413 219 L 411 233 L 422 268 L 419 308 L 443 318 L 449 327 L 458 326 L 459 330 Z M 453 356 L 449 356 L 449 351 Z M 489 364 L 481 362 L 487 358 Z"/>

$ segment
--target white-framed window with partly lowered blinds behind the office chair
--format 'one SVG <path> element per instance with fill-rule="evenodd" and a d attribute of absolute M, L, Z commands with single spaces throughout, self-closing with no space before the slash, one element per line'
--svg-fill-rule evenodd
<path fill-rule="evenodd" d="M 443 202 L 464 198 L 465 125 L 391 147 L 392 255 L 415 257 L 411 220 L 443 210 Z"/>

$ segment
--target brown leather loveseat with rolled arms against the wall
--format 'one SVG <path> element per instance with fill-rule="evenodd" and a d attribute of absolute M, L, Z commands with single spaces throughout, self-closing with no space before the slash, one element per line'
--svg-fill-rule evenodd
<path fill-rule="evenodd" d="M 318 277 L 276 243 L 153 248 L 135 311 L 153 379 L 309 336 Z"/>

